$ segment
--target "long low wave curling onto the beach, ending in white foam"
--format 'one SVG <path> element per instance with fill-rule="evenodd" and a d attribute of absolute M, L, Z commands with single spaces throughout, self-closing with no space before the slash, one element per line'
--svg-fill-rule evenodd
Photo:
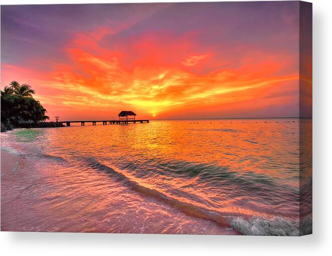
<path fill-rule="evenodd" d="M 91 168 L 109 173 L 112 178 L 115 178 L 118 182 L 121 182 L 130 189 L 146 196 L 151 196 L 161 200 L 168 205 L 179 209 L 188 216 L 211 220 L 219 225 L 232 227 L 244 235 L 298 236 L 310 233 L 310 230 L 306 230 L 304 233 L 300 231 L 300 223 L 298 220 L 279 216 L 273 218 L 253 216 L 249 220 L 246 220 L 243 217 L 224 216 L 222 213 L 210 211 L 190 203 L 181 202 L 177 199 L 171 198 L 168 195 L 165 195 L 156 189 L 142 186 L 138 182 L 127 177 L 122 172 L 119 172 L 112 167 L 100 163 L 94 157 L 88 157 L 84 161 Z M 305 226 L 309 228 L 311 223 L 312 220 L 310 222 L 310 219 L 308 219 L 305 223 Z"/>

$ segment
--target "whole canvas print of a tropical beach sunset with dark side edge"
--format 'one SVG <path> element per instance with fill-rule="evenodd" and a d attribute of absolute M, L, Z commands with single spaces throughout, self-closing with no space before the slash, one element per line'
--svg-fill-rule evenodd
<path fill-rule="evenodd" d="M 312 5 L 1 6 L 1 230 L 312 233 Z"/>

